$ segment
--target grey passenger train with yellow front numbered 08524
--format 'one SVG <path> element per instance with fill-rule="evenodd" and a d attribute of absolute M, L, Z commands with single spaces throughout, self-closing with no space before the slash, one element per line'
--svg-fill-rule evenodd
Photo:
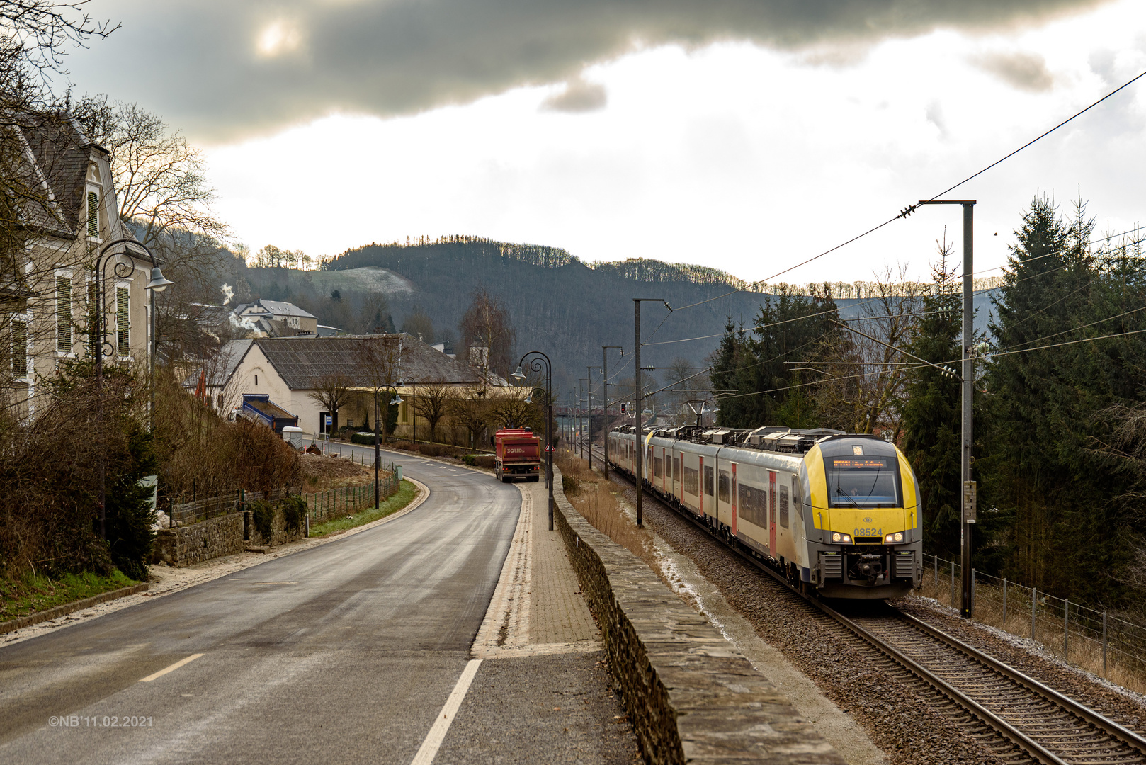
<path fill-rule="evenodd" d="M 903 453 L 837 430 L 629 426 L 609 461 L 727 544 L 823 598 L 906 595 L 923 576 L 919 483 Z"/>

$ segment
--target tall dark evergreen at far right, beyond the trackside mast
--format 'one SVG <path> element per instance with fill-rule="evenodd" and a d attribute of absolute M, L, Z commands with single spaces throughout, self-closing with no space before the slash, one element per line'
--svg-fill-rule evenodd
<path fill-rule="evenodd" d="M 1044 197 L 1023 217 L 996 300 L 975 467 L 980 507 L 999 521 L 987 541 L 1004 573 L 1114 602 L 1132 554 L 1133 502 L 1130 478 L 1099 446 L 1114 427 L 1104 413 L 1141 396 L 1144 352 L 1135 337 L 1073 341 L 1141 326 L 1140 312 L 1127 312 L 1146 294 L 1141 259 L 1091 255 L 1091 229 L 1081 203 L 1072 221 Z"/>

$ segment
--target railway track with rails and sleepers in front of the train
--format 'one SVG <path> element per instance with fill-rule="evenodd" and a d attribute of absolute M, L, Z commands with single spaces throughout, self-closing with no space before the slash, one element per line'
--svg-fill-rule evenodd
<path fill-rule="evenodd" d="M 678 515 L 708 531 L 688 513 Z M 780 572 L 736 552 L 788 587 Z M 841 607 L 861 611 L 845 615 L 817 599 L 809 602 L 865 641 L 880 669 L 916 686 L 933 711 L 1002 762 L 1146 765 L 1143 736 L 926 622 L 886 603 Z"/>

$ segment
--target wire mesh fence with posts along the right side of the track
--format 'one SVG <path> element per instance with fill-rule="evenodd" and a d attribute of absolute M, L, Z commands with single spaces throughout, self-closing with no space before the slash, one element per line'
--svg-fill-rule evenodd
<path fill-rule="evenodd" d="M 924 568 L 919 594 L 959 608 L 961 565 L 925 554 Z M 1128 677 L 1146 674 L 1146 626 L 1141 624 L 974 569 L 971 592 L 978 622 L 1030 638 L 1067 662 L 1117 678 L 1122 685 L 1130 685 L 1123 681 Z"/>

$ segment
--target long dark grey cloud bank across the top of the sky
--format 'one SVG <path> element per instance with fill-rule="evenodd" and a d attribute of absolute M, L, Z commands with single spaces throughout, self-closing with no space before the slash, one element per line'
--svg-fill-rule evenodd
<path fill-rule="evenodd" d="M 939 26 L 1030 23 L 1099 1 L 107 0 L 101 14 L 124 28 L 74 62 L 94 68 L 78 77 L 87 89 L 131 83 L 136 91 L 112 95 L 146 96 L 196 135 L 228 139 L 331 111 L 413 114 L 571 81 L 637 46 L 855 47 Z"/>

